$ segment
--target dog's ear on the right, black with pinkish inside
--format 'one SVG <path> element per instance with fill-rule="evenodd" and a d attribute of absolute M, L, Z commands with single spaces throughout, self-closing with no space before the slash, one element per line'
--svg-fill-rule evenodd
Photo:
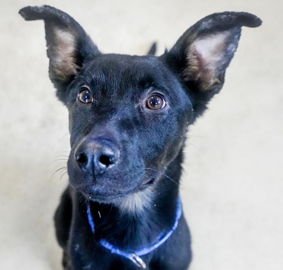
<path fill-rule="evenodd" d="M 238 47 L 241 27 L 257 27 L 261 20 L 246 12 L 209 15 L 191 26 L 161 57 L 177 72 L 205 109 L 218 93 Z"/>

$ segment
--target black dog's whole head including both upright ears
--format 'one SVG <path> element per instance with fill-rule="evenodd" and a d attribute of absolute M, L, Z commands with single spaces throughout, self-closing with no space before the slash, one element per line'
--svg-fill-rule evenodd
<path fill-rule="evenodd" d="M 50 79 L 69 110 L 70 184 L 110 203 L 154 186 L 181 151 L 187 127 L 224 83 L 248 13 L 213 14 L 162 56 L 102 54 L 69 15 L 26 7 L 43 19 Z"/>

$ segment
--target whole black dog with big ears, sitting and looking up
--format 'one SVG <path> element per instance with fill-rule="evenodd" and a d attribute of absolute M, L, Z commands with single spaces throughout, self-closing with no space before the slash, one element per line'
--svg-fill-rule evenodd
<path fill-rule="evenodd" d="M 50 79 L 69 110 L 70 185 L 55 214 L 65 269 L 187 269 L 178 197 L 186 131 L 221 90 L 241 27 L 261 20 L 209 15 L 155 57 L 102 54 L 50 6 L 19 13 L 45 21 Z"/>

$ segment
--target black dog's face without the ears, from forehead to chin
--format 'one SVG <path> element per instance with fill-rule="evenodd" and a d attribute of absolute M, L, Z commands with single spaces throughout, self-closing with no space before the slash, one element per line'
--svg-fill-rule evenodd
<path fill-rule="evenodd" d="M 99 201 L 153 185 L 193 120 L 190 98 L 158 57 L 95 57 L 69 87 L 66 104 L 70 183 Z"/>

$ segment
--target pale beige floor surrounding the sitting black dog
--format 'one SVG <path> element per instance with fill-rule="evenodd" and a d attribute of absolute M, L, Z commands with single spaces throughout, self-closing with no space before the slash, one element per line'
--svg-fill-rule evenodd
<path fill-rule="evenodd" d="M 103 52 L 130 54 L 143 54 L 153 40 L 161 54 L 216 11 L 261 17 L 260 28 L 243 29 L 225 87 L 189 132 L 181 193 L 190 269 L 283 269 L 280 0 L 2 0 L 0 269 L 61 269 L 52 215 L 66 178 L 50 177 L 65 160 L 47 165 L 68 154 L 59 153 L 69 150 L 67 110 L 47 77 L 43 22 L 17 14 L 44 3 L 74 16 Z"/>

